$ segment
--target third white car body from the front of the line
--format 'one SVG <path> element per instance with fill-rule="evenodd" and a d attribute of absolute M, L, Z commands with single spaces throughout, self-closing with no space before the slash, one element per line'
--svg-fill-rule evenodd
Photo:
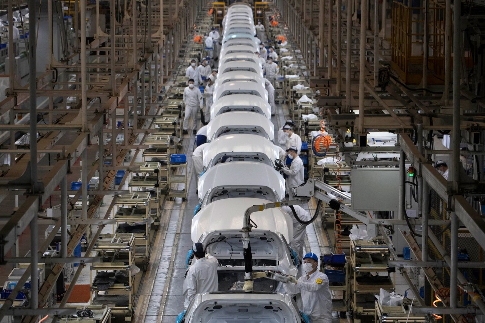
<path fill-rule="evenodd" d="M 205 206 L 214 198 L 206 196 L 210 191 L 225 188 L 234 192 L 234 197 L 241 197 L 245 196 L 244 188 L 248 188 L 247 192 L 250 194 L 250 187 L 257 187 L 258 190 L 252 196 L 261 196 L 273 202 L 285 198 L 283 176 L 273 167 L 256 161 L 230 161 L 211 167 L 199 178 L 198 195 L 200 200 L 204 200 L 202 205 Z M 232 197 L 232 193 L 226 196 Z"/>

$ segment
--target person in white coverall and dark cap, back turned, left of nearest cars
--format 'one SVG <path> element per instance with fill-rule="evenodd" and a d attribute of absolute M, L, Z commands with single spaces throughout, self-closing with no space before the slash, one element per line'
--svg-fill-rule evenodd
<path fill-rule="evenodd" d="M 184 295 L 184 307 L 189 307 L 196 294 L 219 291 L 217 280 L 217 266 L 219 262 L 214 256 L 205 253 L 204 246 L 200 242 L 192 247 L 194 260 L 192 266 L 185 274 L 184 285 L 187 286 L 187 294 Z"/>

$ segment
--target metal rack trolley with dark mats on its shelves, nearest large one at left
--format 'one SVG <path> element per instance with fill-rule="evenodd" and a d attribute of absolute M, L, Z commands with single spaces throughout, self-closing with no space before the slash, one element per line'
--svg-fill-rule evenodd
<path fill-rule="evenodd" d="M 103 259 L 103 262 L 90 266 L 91 304 L 108 306 L 114 315 L 124 316 L 125 320 L 129 318 L 129 321 L 131 321 L 136 292 L 135 277 L 132 275 L 136 258 L 135 235 L 133 233 L 101 234 L 93 247 L 93 251 L 96 252 L 96 256 Z M 99 291 L 97 286 L 94 285 L 94 279 L 98 272 L 117 270 L 128 271 L 128 282 L 115 283 L 107 290 Z M 93 277 L 93 273 L 95 277 Z M 120 301 L 124 301 L 127 306 L 116 303 Z"/>

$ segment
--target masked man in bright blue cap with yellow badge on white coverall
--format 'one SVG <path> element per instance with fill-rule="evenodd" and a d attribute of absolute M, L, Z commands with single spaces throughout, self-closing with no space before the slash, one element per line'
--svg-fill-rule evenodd
<path fill-rule="evenodd" d="M 327 275 L 318 270 L 318 257 L 309 252 L 303 257 L 303 271 L 298 280 L 291 276 L 285 283 L 285 291 L 295 295 L 301 293 L 302 311 L 311 323 L 332 323 L 332 296 Z"/>

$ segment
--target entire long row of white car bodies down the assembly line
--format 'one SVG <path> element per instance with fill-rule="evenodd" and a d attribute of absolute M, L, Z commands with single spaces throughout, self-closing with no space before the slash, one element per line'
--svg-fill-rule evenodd
<path fill-rule="evenodd" d="M 245 274 L 242 232 L 247 208 L 284 199 L 285 180 L 275 170 L 281 149 L 264 86 L 251 7 L 229 6 L 204 146 L 204 173 L 198 181 L 199 205 L 192 220 L 192 241 L 202 242 L 218 259 L 219 291 L 197 294 L 178 323 L 308 323 L 282 284 L 261 278 L 242 291 Z M 230 162 L 227 162 L 230 157 Z M 296 275 L 298 258 L 289 247 L 290 215 L 281 208 L 255 213 L 250 233 L 253 271 Z M 187 268 L 193 263 L 187 254 Z M 184 286 L 184 290 L 186 287 Z"/>

